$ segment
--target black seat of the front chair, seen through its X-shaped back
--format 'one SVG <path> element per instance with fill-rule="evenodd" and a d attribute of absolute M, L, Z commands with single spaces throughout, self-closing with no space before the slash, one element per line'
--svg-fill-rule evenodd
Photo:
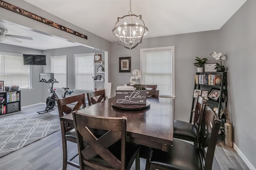
<path fill-rule="evenodd" d="M 134 143 L 131 143 L 131 142 L 126 142 L 126 146 L 125 147 L 129 148 L 125 152 L 125 154 L 126 154 L 125 155 L 125 169 L 128 170 L 132 166 L 132 164 L 134 162 L 134 159 L 135 159 L 136 155 L 139 152 L 140 145 L 134 144 Z M 119 140 L 118 142 L 116 142 L 112 146 L 110 146 L 108 148 L 108 150 L 114 156 L 116 156 L 116 158 L 121 160 L 121 150 L 119 148 L 121 148 L 121 140 Z M 89 162 L 97 162 L 99 164 L 104 164 L 108 168 L 111 167 L 111 166 L 109 166 L 108 162 L 103 160 L 99 155 L 94 156 L 92 159 L 89 160 Z"/>

